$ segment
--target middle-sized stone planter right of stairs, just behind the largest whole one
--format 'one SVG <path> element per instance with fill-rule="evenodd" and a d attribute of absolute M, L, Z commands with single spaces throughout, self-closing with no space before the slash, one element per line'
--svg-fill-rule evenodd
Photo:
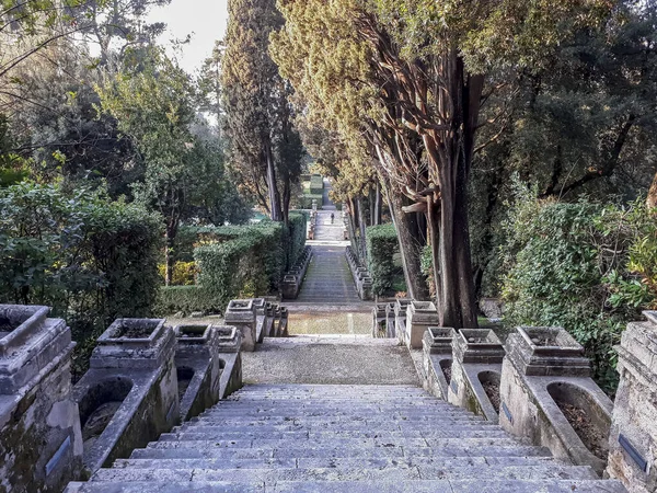
<path fill-rule="evenodd" d="M 497 410 L 484 383 L 486 387 L 488 382 L 499 383 L 504 354 L 502 342 L 491 329 L 458 331 L 452 341 L 453 359 L 447 400 L 497 423 Z"/>

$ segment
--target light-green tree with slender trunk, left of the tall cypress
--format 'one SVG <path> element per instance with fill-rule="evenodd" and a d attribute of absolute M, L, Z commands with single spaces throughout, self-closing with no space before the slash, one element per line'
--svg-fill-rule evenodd
<path fill-rule="evenodd" d="M 206 177 L 198 173 L 191 133 L 195 118 L 189 77 L 159 49 L 137 72 L 122 72 L 106 87 L 97 87 L 102 108 L 118 121 L 145 162 L 143 182 L 135 184 L 136 199 L 164 217 L 166 284 L 171 282 L 170 254 L 191 195 Z"/>

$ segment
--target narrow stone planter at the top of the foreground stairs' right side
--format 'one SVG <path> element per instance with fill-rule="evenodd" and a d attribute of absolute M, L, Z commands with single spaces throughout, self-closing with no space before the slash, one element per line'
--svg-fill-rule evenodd
<path fill-rule="evenodd" d="M 447 400 L 449 381 L 446 369 L 451 371 L 452 341 L 456 331 L 451 328 L 430 326 L 422 340 L 423 365 L 426 375 L 425 390 L 439 399 Z"/>

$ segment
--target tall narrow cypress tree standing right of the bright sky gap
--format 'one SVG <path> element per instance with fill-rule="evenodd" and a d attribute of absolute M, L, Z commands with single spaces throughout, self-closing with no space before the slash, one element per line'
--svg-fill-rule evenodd
<path fill-rule="evenodd" d="M 281 24 L 274 0 L 229 2 L 221 87 L 232 164 L 272 219 L 287 222 L 303 149 L 288 102 L 291 88 L 268 54 L 269 34 Z"/>

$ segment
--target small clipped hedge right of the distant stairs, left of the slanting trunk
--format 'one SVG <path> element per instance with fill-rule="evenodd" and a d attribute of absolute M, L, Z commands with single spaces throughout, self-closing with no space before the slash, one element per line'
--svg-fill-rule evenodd
<path fill-rule="evenodd" d="M 376 295 L 381 296 L 392 287 L 395 275 L 400 272 L 399 266 L 394 265 L 394 255 L 400 251 L 394 226 L 390 223 L 367 228 L 366 245 L 372 289 Z"/>

